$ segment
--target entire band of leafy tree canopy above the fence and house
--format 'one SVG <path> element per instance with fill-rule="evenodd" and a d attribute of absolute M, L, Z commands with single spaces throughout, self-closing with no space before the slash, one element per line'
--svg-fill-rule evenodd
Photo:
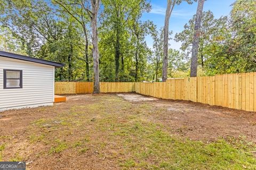
<path fill-rule="evenodd" d="M 142 20 L 148 0 L 102 0 L 92 26 L 89 0 L 0 0 L 0 50 L 65 63 L 56 81 L 93 81 L 93 36 L 98 35 L 100 81 L 160 81 L 164 58 L 164 28 Z M 186 1 L 189 4 L 194 1 Z M 173 1 L 179 5 L 181 1 Z M 205 2 L 207 3 L 207 1 Z M 196 15 L 174 35 L 167 77 L 188 77 Z M 164 23 L 163 23 L 164 24 Z M 95 32 L 96 31 L 96 32 Z M 204 11 L 199 34 L 198 74 L 256 71 L 256 2 L 237 0 L 230 15 L 215 18 Z M 172 31 L 169 30 L 168 38 Z M 147 44 L 147 37 L 153 45 Z M 94 42 L 94 44 L 93 44 Z"/>

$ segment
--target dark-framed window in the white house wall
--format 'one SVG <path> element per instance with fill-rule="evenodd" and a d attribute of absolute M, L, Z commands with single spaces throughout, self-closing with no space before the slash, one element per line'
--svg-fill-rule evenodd
<path fill-rule="evenodd" d="M 22 70 L 4 69 L 4 89 L 22 88 Z"/>

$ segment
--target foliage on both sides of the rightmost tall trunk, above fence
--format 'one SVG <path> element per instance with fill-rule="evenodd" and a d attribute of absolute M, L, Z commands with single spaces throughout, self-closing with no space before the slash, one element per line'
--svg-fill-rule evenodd
<path fill-rule="evenodd" d="M 256 2 L 238 0 L 233 4 L 230 18 L 214 19 L 210 11 L 203 13 L 199 39 L 198 64 L 206 75 L 256 71 Z M 182 41 L 181 50 L 191 51 L 195 16 L 185 30 L 175 35 Z M 189 61 L 187 61 L 189 63 Z"/>

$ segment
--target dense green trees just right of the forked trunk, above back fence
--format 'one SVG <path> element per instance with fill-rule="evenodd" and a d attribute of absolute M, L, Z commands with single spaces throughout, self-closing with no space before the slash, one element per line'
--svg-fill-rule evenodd
<path fill-rule="evenodd" d="M 142 12 L 150 10 L 145 1 L 103 0 L 99 28 L 101 81 L 139 81 L 145 74 L 150 50 L 145 36 L 151 22 L 142 22 Z"/>

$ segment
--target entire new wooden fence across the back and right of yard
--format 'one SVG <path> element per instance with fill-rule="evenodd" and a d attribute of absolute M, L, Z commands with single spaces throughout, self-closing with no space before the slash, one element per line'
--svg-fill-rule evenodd
<path fill-rule="evenodd" d="M 101 82 L 101 92 L 138 92 L 163 99 L 191 100 L 256 111 L 256 72 L 214 77 L 169 79 L 166 82 Z M 55 94 L 92 93 L 92 82 L 56 82 Z"/>

